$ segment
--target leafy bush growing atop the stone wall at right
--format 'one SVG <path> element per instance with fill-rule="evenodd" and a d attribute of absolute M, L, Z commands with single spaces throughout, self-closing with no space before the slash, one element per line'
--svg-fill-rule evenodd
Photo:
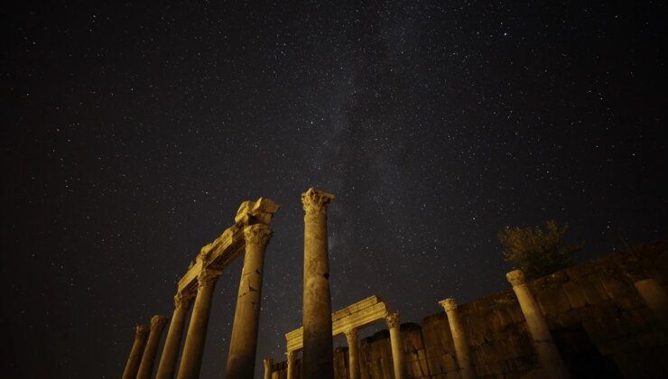
<path fill-rule="evenodd" d="M 506 227 L 496 235 L 503 245 L 506 261 L 512 262 L 515 269 L 524 271 L 527 278 L 539 278 L 571 266 L 573 254 L 584 245 L 564 244 L 568 224 L 560 228 L 556 221 L 549 220 L 545 226 L 545 231 L 540 226 Z"/>

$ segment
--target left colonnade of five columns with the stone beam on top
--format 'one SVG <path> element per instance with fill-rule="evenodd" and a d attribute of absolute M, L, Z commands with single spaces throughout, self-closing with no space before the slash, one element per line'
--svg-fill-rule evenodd
<path fill-rule="evenodd" d="M 172 321 L 156 378 L 172 379 L 174 373 L 178 373 L 179 379 L 199 377 L 214 286 L 227 265 L 234 262 L 241 253 L 245 253 L 244 269 L 239 282 L 237 311 L 227 359 L 227 377 L 253 377 L 264 251 L 272 236 L 272 217 L 278 209 L 278 205 L 270 199 L 260 198 L 257 201 L 244 202 L 237 211 L 235 224 L 209 245 L 202 247 L 195 261 L 190 263 L 174 295 Z M 177 371 L 183 328 L 193 299 L 190 325 Z M 145 328 L 136 328 L 135 343 L 125 365 L 124 379 L 152 377 L 154 356 L 166 322 L 167 318 L 164 316 L 153 317 L 148 342 Z"/>

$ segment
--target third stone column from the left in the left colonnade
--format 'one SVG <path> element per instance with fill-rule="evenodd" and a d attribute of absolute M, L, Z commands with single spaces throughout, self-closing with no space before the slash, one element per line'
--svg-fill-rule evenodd
<path fill-rule="evenodd" d="M 174 313 L 172 322 L 167 331 L 167 338 L 162 348 L 162 357 L 158 365 L 158 373 L 155 379 L 172 379 L 176 372 L 176 361 L 179 358 L 179 347 L 181 347 L 181 338 L 183 337 L 183 327 L 186 322 L 186 315 L 190 308 L 190 303 L 194 297 L 194 292 L 178 292 L 174 296 Z"/>

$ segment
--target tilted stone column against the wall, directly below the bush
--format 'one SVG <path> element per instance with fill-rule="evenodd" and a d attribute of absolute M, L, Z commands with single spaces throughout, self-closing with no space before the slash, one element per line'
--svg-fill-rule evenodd
<path fill-rule="evenodd" d="M 566 366 L 561 360 L 559 350 L 554 345 L 543 312 L 538 302 L 533 298 L 533 293 L 529 291 L 529 287 L 526 285 L 524 273 L 522 270 L 511 271 L 506 273 L 506 278 L 508 282 L 513 284 L 513 291 L 515 291 L 515 296 L 520 303 L 520 308 L 526 320 L 526 328 L 531 334 L 533 347 L 536 349 L 536 355 L 541 365 L 551 378 L 568 378 L 569 374 Z"/>

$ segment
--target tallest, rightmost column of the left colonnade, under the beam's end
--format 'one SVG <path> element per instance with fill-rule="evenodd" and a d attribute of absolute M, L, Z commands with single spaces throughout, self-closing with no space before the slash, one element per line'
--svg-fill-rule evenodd
<path fill-rule="evenodd" d="M 229 341 L 226 369 L 228 378 L 252 379 L 255 373 L 264 251 L 271 237 L 272 229 L 264 224 L 244 228 L 246 255 L 239 282 L 232 337 Z"/>

